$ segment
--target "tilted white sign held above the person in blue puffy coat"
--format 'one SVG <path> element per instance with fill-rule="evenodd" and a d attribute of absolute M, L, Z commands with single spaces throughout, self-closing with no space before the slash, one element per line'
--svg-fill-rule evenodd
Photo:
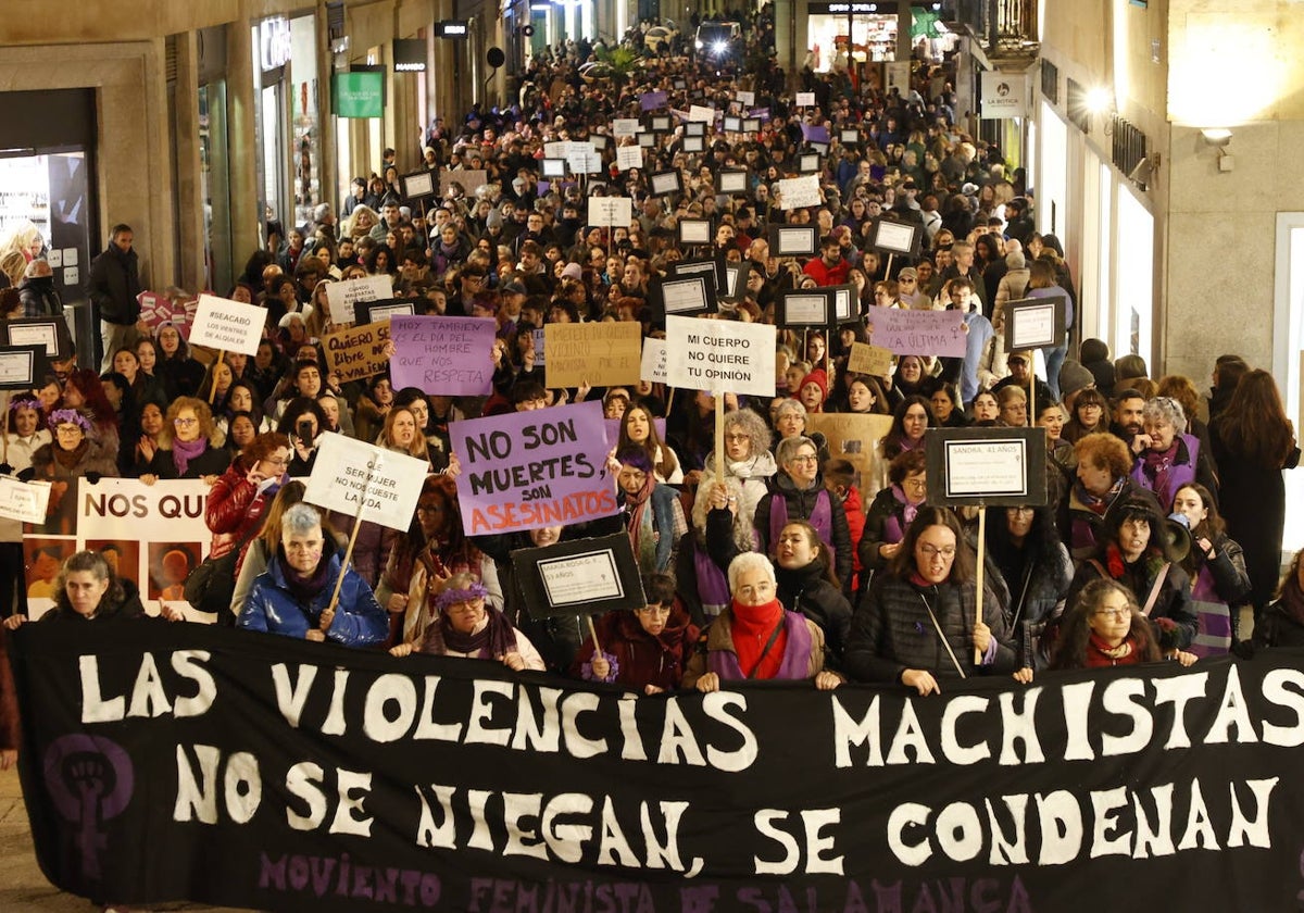
<path fill-rule="evenodd" d="M 318 441 L 304 501 L 406 532 L 430 464 L 334 432 Z"/>

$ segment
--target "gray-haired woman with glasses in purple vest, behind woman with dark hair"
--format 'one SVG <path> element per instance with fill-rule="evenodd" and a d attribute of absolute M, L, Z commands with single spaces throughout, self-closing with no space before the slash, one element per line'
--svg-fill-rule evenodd
<path fill-rule="evenodd" d="M 824 488 L 818 454 L 819 449 L 808 437 L 788 437 L 778 442 L 775 451 L 778 472 L 771 483 L 771 493 L 756 505 L 758 550 L 772 554 L 778 532 L 789 520 L 807 520 L 832 553 L 833 573 L 845 593 L 852 580 L 852 531 L 842 502 Z"/>

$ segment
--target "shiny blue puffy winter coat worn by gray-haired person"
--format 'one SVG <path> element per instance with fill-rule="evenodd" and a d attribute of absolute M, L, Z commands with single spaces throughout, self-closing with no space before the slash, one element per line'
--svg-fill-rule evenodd
<path fill-rule="evenodd" d="M 330 558 L 330 573 L 326 586 L 308 605 L 301 605 L 286 586 L 286 575 L 279 561 L 271 565 L 253 582 L 249 596 L 240 609 L 239 627 L 250 631 L 270 631 L 292 638 L 305 638 L 310 627 L 316 629 L 321 614 L 335 592 L 339 578 L 339 556 Z M 366 580 L 352 567 L 344 574 L 344 586 L 339 591 L 339 605 L 331 621 L 326 639 L 346 647 L 369 647 L 381 643 L 390 633 L 389 616 L 376 601 Z"/>

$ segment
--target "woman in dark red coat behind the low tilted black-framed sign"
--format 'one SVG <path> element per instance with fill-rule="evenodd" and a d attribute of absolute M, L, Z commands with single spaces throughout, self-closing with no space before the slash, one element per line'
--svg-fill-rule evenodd
<path fill-rule="evenodd" d="M 679 687 L 698 643 L 698 626 L 675 600 L 674 578 L 644 574 L 647 605 L 608 612 L 593 622 L 571 664 L 571 678 L 660 694 Z"/>

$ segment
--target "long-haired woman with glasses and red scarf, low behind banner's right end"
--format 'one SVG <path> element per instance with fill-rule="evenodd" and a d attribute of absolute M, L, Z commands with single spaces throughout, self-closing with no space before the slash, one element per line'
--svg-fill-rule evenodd
<path fill-rule="evenodd" d="M 1065 616 L 1051 669 L 1098 669 L 1159 660 L 1154 630 L 1131 591 L 1110 579 L 1086 584 Z"/>

